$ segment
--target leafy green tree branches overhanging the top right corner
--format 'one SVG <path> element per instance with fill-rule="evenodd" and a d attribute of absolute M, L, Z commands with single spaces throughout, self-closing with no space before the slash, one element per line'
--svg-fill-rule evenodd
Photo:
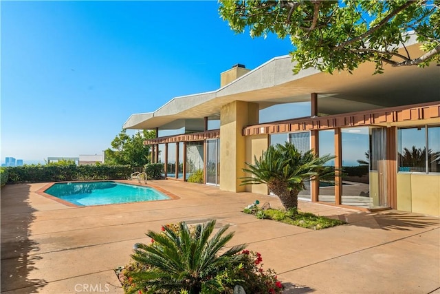
<path fill-rule="evenodd" d="M 290 38 L 294 72 L 317 67 L 351 72 L 366 61 L 382 73 L 392 66 L 440 62 L 440 0 L 220 0 L 219 13 L 234 32 Z M 404 47 L 411 36 L 421 54 Z M 404 47 L 404 50 L 399 48 Z"/>

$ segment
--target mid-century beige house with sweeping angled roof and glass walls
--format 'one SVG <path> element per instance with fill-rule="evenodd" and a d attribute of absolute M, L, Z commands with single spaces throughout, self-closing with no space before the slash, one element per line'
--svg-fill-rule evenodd
<path fill-rule="evenodd" d="M 412 39 L 406 48 L 419 44 Z M 353 74 L 292 68 L 290 56 L 254 70 L 235 65 L 221 73 L 218 90 L 133 114 L 124 128 L 157 130 L 145 144 L 168 179 L 202 169 L 206 185 L 267 194 L 265 185 L 241 185 L 245 162 L 290 141 L 336 156 L 327 164 L 342 169 L 342 178 L 311 181 L 300 199 L 439 216 L 440 67 L 385 65 L 376 75 L 372 63 Z"/>

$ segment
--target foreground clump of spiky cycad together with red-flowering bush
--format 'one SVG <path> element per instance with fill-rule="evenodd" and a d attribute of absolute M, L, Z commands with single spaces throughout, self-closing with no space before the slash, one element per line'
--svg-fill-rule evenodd
<path fill-rule="evenodd" d="M 214 234 L 215 220 L 194 227 L 185 222 L 148 231 L 149 244 L 137 243 L 133 261 L 122 271 L 125 293 L 281 293 L 283 285 L 272 270 L 263 270 L 260 253 L 245 245 L 225 244 L 233 233 L 228 225 Z M 121 269 L 116 269 L 120 273 Z"/>

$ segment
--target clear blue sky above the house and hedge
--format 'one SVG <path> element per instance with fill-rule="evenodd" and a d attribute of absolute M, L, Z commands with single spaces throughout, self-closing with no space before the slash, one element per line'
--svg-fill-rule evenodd
<path fill-rule="evenodd" d="M 292 45 L 234 34 L 217 1 L 1 1 L 1 162 L 101 154 L 133 113 L 219 88 Z M 31 162 L 32 161 L 32 162 Z"/>

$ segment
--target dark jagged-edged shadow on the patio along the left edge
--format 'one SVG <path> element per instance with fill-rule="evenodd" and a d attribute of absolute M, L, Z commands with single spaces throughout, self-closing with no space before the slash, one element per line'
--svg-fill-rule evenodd
<path fill-rule="evenodd" d="M 28 278 L 35 268 L 38 243 L 29 240 L 30 224 L 35 219 L 29 203 L 30 185 L 6 185 L 1 189 L 1 292 L 23 289 L 36 293 L 45 280 Z"/>

